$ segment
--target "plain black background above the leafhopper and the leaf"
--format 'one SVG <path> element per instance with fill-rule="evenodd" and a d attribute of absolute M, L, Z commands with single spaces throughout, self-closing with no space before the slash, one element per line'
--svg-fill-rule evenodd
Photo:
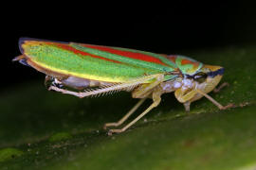
<path fill-rule="evenodd" d="M 169 6 L 103 7 L 102 10 L 80 4 L 51 8 L 48 4 L 46 8 L 20 8 L 14 15 L 9 15 L 11 11 L 4 13 L 1 86 L 16 86 L 39 78 L 44 81 L 43 74 L 11 62 L 20 55 L 20 37 L 128 47 L 163 54 L 251 44 L 256 40 L 252 5 L 241 2 L 201 7 L 188 1 L 185 5 Z"/>

